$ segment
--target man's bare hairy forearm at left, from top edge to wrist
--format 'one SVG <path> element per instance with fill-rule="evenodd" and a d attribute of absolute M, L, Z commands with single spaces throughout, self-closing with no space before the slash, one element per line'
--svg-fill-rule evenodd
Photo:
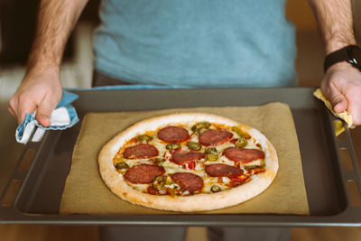
<path fill-rule="evenodd" d="M 70 32 L 88 0 L 41 0 L 32 50 L 30 70 L 59 70 Z"/>

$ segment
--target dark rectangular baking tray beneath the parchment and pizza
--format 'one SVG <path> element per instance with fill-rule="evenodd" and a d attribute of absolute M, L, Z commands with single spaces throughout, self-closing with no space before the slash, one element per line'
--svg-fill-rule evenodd
<path fill-rule="evenodd" d="M 73 90 L 80 122 L 64 131 L 48 131 L 40 143 L 26 144 L 11 180 L 0 196 L 0 223 L 79 225 L 162 225 L 316 227 L 361 226 L 361 207 L 349 198 L 347 183 L 360 175 L 350 134 L 335 137 L 333 120 L 313 88 L 207 88 Z M 71 155 L 81 120 L 88 112 L 155 110 L 180 107 L 245 107 L 282 102 L 291 107 L 301 150 L 310 215 L 275 214 L 167 214 L 167 215 L 60 215 L 60 199 L 69 173 Z M 341 164 L 347 152 L 351 169 Z M 30 156 L 30 157 L 29 157 Z M 30 161 L 29 161 L 30 160 Z M 27 162 L 29 168 L 23 168 Z M 15 183 L 15 184 L 14 184 Z M 16 191 L 16 184 L 20 188 Z M 15 186 L 15 188 L 14 188 Z M 11 191 L 14 191 L 14 199 Z M 10 193 L 10 194 L 9 194 Z M 8 201 L 10 197 L 10 201 Z M 7 202 L 4 200 L 7 199 Z M 359 199 L 359 197 L 358 197 Z"/>

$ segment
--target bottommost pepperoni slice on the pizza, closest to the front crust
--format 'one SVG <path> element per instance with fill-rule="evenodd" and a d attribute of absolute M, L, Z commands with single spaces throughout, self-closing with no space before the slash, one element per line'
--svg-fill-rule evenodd
<path fill-rule="evenodd" d="M 203 179 L 193 173 L 177 172 L 171 175 L 171 179 L 185 190 L 196 191 L 203 188 Z"/>

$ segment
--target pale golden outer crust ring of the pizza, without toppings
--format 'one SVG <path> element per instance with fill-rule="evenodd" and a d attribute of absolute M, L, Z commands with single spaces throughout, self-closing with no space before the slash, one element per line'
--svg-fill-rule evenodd
<path fill-rule="evenodd" d="M 134 190 L 123 178 L 123 175 L 116 171 L 113 158 L 119 149 L 134 136 L 143 134 L 145 131 L 157 130 L 160 127 L 171 124 L 194 123 L 208 121 L 225 125 L 237 125 L 254 136 L 263 147 L 264 162 L 266 171 L 258 173 L 254 179 L 236 188 L 222 190 L 216 193 L 201 193 L 190 196 L 152 195 Z M 206 113 L 179 113 L 167 116 L 156 116 L 143 120 L 116 134 L 99 153 L 99 171 L 106 186 L 118 197 L 131 203 L 142 205 L 153 209 L 172 210 L 180 212 L 205 211 L 223 209 L 237 205 L 245 200 L 252 199 L 273 182 L 278 170 L 278 158 L 276 151 L 270 141 L 255 128 L 237 123 L 223 116 L 216 116 Z"/>

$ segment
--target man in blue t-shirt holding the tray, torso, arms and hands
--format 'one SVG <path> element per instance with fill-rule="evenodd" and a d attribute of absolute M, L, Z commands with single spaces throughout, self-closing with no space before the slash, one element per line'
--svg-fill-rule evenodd
<path fill-rule="evenodd" d="M 9 101 L 19 123 L 36 109 L 38 122 L 51 125 L 62 94 L 62 52 L 86 3 L 41 1 L 27 72 Z M 356 44 L 350 1 L 310 4 L 328 56 Z M 284 0 L 104 0 L 100 16 L 94 85 L 113 79 L 202 88 L 296 85 L 294 30 Z M 336 112 L 347 110 L 361 125 L 361 72 L 338 55 L 328 59 L 321 88 Z"/>

